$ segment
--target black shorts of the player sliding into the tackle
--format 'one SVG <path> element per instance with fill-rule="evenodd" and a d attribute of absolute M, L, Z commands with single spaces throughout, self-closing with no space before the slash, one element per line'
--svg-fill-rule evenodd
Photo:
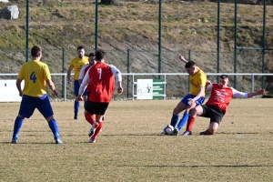
<path fill-rule="evenodd" d="M 216 122 L 219 124 L 225 115 L 224 111 L 222 109 L 217 108 L 216 106 L 207 106 L 202 105 L 203 113 L 200 116 L 209 117 L 210 123 Z"/>

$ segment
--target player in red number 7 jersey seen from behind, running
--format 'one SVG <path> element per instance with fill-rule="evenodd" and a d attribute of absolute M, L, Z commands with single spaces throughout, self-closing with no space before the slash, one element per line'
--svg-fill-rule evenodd
<path fill-rule="evenodd" d="M 122 77 L 120 71 L 116 66 L 106 65 L 106 54 L 103 50 L 97 50 L 95 53 L 96 65 L 90 67 L 86 76 L 79 88 L 77 100 L 83 100 L 82 95 L 89 82 L 91 82 L 91 92 L 88 96 L 86 105 L 86 119 L 90 122 L 94 120 L 96 115 L 96 121 L 93 123 L 90 129 L 91 138 L 88 143 L 96 143 L 96 137 L 103 127 L 103 116 L 106 113 L 106 109 L 111 102 L 113 91 L 115 88 L 115 77 L 117 81 L 117 93 L 121 94 L 123 88 L 121 85 Z M 93 117 L 93 118 L 92 118 Z"/>

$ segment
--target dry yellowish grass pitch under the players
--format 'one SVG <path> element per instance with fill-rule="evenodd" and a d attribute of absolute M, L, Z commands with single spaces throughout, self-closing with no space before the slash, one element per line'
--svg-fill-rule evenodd
<path fill-rule="evenodd" d="M 53 102 L 64 145 L 55 145 L 43 116 L 25 119 L 10 144 L 18 103 L 0 103 L 0 181 L 272 181 L 270 99 L 233 99 L 215 136 L 160 136 L 178 100 L 113 101 L 96 144 L 90 125 L 74 120 L 72 102 Z"/>

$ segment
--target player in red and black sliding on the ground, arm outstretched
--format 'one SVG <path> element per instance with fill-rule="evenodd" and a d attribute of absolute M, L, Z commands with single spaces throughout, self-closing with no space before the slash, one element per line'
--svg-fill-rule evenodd
<path fill-rule="evenodd" d="M 200 135 L 214 135 L 217 132 L 217 128 L 227 112 L 227 106 L 229 105 L 232 97 L 249 98 L 252 96 L 263 95 L 264 89 L 258 89 L 256 92 L 239 92 L 233 87 L 227 86 L 229 83 L 228 76 L 220 76 L 219 84 L 211 84 L 207 86 L 207 91 L 211 91 L 207 103 L 202 106 L 196 106 L 190 110 L 190 116 L 187 123 L 190 126 L 190 130 L 197 116 L 204 116 L 210 118 L 210 124 L 206 131 L 200 133 Z"/>

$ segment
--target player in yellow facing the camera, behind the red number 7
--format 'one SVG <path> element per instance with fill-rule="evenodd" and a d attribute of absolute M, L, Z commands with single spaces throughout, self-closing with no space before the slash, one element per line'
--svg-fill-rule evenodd
<path fill-rule="evenodd" d="M 88 64 L 88 57 L 85 56 L 85 49 L 83 46 L 78 46 L 76 48 L 76 51 L 77 51 L 77 57 L 73 58 L 71 61 L 70 61 L 70 66 L 67 70 L 67 82 L 68 82 L 68 85 L 71 85 L 71 71 L 73 69 L 74 72 L 75 72 L 75 75 L 74 75 L 74 94 L 75 96 L 78 95 L 78 88 L 80 86 L 79 82 L 78 82 L 78 76 L 80 74 L 80 71 L 81 71 L 81 68 L 82 66 L 85 66 L 86 64 Z M 84 99 L 87 100 L 87 92 L 84 93 Z M 80 103 L 78 101 L 76 101 L 75 99 L 75 102 L 74 102 L 74 119 L 77 119 L 77 114 L 78 114 L 78 109 L 79 109 L 79 106 L 80 106 Z"/>

